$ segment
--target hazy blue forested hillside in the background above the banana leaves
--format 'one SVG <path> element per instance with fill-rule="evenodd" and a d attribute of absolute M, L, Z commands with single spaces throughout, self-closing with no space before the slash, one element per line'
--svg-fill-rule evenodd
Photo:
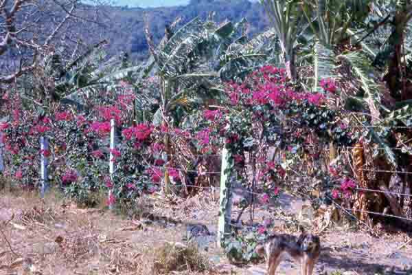
<path fill-rule="evenodd" d="M 167 8 L 107 8 L 106 14 L 111 17 L 110 45 L 111 53 L 125 51 L 135 58 L 142 58 L 147 54 L 147 44 L 144 37 L 144 16 L 148 14 L 150 30 L 155 43 L 163 37 L 165 24 L 171 23 L 176 17 L 183 17 L 181 25 L 194 17 L 205 18 L 209 12 L 216 12 L 214 20 L 236 22 L 246 18 L 250 24 L 249 34 L 253 35 L 268 27 L 268 19 L 260 3 L 251 3 L 249 0 L 192 0 L 187 6 Z"/>

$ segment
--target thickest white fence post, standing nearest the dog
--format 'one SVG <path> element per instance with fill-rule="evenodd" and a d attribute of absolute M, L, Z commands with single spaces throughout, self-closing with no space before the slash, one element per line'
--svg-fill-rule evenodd
<path fill-rule="evenodd" d="M 220 172 L 220 198 L 219 198 L 219 221 L 218 221 L 218 247 L 225 247 L 225 239 L 230 234 L 231 222 L 231 184 L 228 180 L 227 169 L 229 164 L 227 149 L 222 150 L 222 170 Z"/>

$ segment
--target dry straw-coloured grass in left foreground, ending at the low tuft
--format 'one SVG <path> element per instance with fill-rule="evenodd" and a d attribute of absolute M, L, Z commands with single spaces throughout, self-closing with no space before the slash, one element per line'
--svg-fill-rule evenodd
<path fill-rule="evenodd" d="M 194 248 L 183 250 L 180 258 L 174 252 L 185 267 L 157 258 L 165 241 L 181 241 L 183 225 L 144 224 L 99 208 L 82 209 L 56 190 L 45 199 L 38 192 L 0 192 L 0 221 L 14 214 L 1 230 L 15 252 L 0 236 L 0 274 L 154 274 L 159 262 L 166 263 L 166 269 L 157 274 L 172 270 L 172 265 L 185 270 L 180 274 L 205 274 L 201 270 L 206 258 L 202 262 Z M 154 204 L 150 198 L 139 201 L 136 217 L 153 211 Z M 193 272 L 185 273 L 187 269 Z"/>

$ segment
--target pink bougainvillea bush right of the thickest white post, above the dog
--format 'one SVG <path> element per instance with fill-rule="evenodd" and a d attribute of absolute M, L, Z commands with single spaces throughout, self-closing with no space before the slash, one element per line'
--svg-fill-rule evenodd
<path fill-rule="evenodd" d="M 350 131 L 339 113 L 325 102 L 337 93 L 331 79 L 321 81 L 323 92 L 299 91 L 287 82 L 284 69 L 262 67 L 242 83 L 227 83 L 225 91 L 231 106 L 203 111 L 203 124 L 198 125 L 198 146 L 225 146 L 229 151 L 229 181 L 242 182 L 258 192 L 260 203 L 279 195 L 286 172 L 305 155 L 319 158 L 308 146 L 321 142 L 352 144 Z M 224 141 L 224 142 L 222 142 Z M 269 148 L 284 149 L 281 158 L 268 155 Z M 245 159 L 252 167 L 252 179 L 244 177 Z"/>

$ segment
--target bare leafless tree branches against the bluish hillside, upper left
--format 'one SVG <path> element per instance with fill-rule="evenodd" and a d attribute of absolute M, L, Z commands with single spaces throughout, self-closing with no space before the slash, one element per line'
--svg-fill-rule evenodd
<path fill-rule="evenodd" d="M 107 3 L 0 0 L 0 84 L 14 83 L 47 55 L 73 59 L 102 39 Z M 94 40 L 94 41 L 93 41 Z"/>

